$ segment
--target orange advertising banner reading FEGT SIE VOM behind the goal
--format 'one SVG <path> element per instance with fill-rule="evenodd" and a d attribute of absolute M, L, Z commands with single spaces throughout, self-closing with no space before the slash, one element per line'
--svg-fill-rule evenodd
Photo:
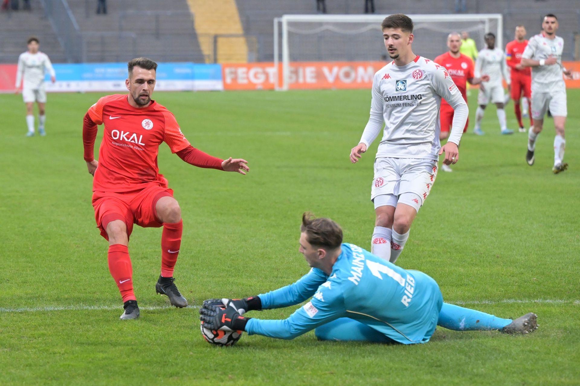
<path fill-rule="evenodd" d="M 385 64 L 376 61 L 291 63 L 289 88 L 370 89 L 373 75 Z M 565 79 L 566 87 L 580 89 L 580 62 L 563 64 L 565 68 L 571 69 L 574 77 L 573 80 Z M 224 90 L 274 90 L 277 74 L 274 63 L 222 64 Z"/>

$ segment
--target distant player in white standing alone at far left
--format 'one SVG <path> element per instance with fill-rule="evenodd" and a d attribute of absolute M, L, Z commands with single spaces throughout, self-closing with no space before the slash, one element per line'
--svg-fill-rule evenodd
<path fill-rule="evenodd" d="M 16 70 L 16 93 L 22 82 L 22 98 L 26 104 L 26 124 L 28 137 L 34 135 L 34 102 L 38 104 L 38 133 L 46 135 L 44 123 L 46 121 L 45 104 L 46 91 L 44 87 L 45 69 L 50 74 L 52 83 L 56 81 L 55 70 L 52 68 L 50 59 L 44 52 L 38 51 L 38 38 L 32 36 L 28 39 L 28 51 L 21 53 L 18 58 Z"/>

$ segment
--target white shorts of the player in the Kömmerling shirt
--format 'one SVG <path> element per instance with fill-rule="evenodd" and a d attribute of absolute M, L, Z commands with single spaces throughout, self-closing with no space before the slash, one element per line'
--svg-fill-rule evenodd
<path fill-rule="evenodd" d="M 375 197 L 383 194 L 400 197 L 403 193 L 415 193 L 419 197 L 416 209 L 420 208 L 429 196 L 436 177 L 437 160 L 377 158 L 375 160 L 375 178 L 371 188 L 371 201 L 375 202 Z M 377 201 L 386 202 L 385 200 Z M 377 205 L 375 205 L 376 208 Z"/>

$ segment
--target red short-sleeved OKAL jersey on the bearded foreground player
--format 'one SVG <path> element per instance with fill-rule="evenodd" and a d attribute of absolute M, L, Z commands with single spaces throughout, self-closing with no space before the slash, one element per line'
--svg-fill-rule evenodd
<path fill-rule="evenodd" d="M 93 122 L 104 123 L 93 192 L 129 192 L 156 181 L 166 186 L 157 167 L 159 145 L 165 142 L 173 153 L 190 146 L 164 106 L 151 101 L 147 107 L 135 108 L 127 98 L 127 94 L 107 95 L 89 108 Z"/>

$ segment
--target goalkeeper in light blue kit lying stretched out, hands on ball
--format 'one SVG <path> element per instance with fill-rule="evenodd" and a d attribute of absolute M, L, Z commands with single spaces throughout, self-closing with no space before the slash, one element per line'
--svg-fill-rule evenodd
<path fill-rule="evenodd" d="M 293 339 L 312 329 L 320 340 L 427 343 L 436 326 L 451 330 L 529 333 L 536 315 L 502 319 L 443 302 L 437 282 L 425 273 L 404 270 L 353 244 L 342 243 L 342 229 L 327 218 L 302 216 L 300 253 L 311 267 L 294 284 L 246 299 L 211 299 L 200 319 L 212 330 L 242 330 Z M 310 302 L 284 320 L 242 316 Z"/>

